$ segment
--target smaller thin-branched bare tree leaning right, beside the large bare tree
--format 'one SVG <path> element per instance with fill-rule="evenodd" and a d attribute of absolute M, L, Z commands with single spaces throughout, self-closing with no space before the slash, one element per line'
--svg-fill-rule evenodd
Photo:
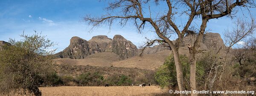
<path fill-rule="evenodd" d="M 209 50 L 208 52 L 206 52 L 204 56 L 206 58 L 202 59 L 204 62 L 204 65 L 207 66 L 207 68 L 209 68 L 206 71 L 206 77 L 205 77 L 205 83 L 204 83 L 204 88 L 208 89 L 209 91 L 212 91 L 212 88 L 214 87 L 214 83 L 216 79 L 218 79 L 217 76 L 220 75 L 219 79 L 221 79 L 224 70 L 227 69 L 226 68 L 227 60 L 228 60 L 227 56 L 228 54 L 230 54 L 230 50 L 232 49 L 232 47 L 237 42 L 242 41 L 247 37 L 252 36 L 253 33 L 255 33 L 256 22 L 254 21 L 254 19 L 252 19 L 249 22 L 246 22 L 241 19 L 237 19 L 236 22 L 234 22 L 234 24 L 236 26 L 233 27 L 233 30 L 231 31 L 227 30 L 224 35 L 227 47 L 222 48 L 222 47 L 216 46 L 212 50 Z M 221 54 L 221 49 L 225 49 L 224 50 L 225 54 Z M 245 54 L 244 49 L 236 49 L 234 58 L 240 63 L 240 65 L 244 58 L 244 54 Z M 225 76 L 227 76 L 228 78 L 232 77 L 232 72 L 229 71 L 228 74 L 226 74 Z M 221 83 L 227 83 L 228 81 L 229 79 L 225 79 L 224 81 L 221 81 Z M 212 96 L 212 93 L 209 93 L 208 95 Z"/>

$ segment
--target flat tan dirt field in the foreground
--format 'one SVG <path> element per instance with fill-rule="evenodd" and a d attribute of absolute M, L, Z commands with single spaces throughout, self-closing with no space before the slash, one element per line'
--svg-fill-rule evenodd
<path fill-rule="evenodd" d="M 155 96 L 164 90 L 157 86 L 110 86 L 110 87 L 41 87 L 43 96 Z"/>

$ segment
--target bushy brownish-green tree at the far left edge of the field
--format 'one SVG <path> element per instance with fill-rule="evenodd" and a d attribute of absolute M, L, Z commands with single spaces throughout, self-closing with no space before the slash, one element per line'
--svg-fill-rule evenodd
<path fill-rule="evenodd" d="M 55 45 L 46 36 L 35 31 L 33 35 L 20 35 L 23 39 L 10 39 L 11 46 L 0 51 L 0 93 L 32 93 L 41 96 L 38 88 L 47 77 L 53 63 L 55 50 L 47 51 Z"/>

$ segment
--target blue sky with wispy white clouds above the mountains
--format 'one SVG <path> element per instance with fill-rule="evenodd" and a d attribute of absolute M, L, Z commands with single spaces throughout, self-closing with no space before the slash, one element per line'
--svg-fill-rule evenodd
<path fill-rule="evenodd" d="M 103 8 L 107 4 L 98 0 L 0 0 L 0 40 L 9 41 L 9 38 L 19 40 L 23 30 L 25 34 L 33 34 L 33 30 L 37 30 L 58 43 L 53 48 L 58 48 L 57 52 L 59 52 L 69 45 L 73 36 L 90 40 L 92 36 L 106 35 L 113 38 L 114 35 L 120 34 L 137 47 L 146 41 L 145 37 L 156 38 L 156 35 L 149 31 L 150 28 L 146 28 L 143 34 L 137 33 L 132 23 L 125 27 L 115 24 L 111 32 L 108 32 L 108 26 L 102 26 L 88 33 L 90 26 L 82 22 L 82 17 L 87 14 L 93 16 L 105 14 Z M 166 7 L 162 5 L 151 8 L 152 13 L 158 13 L 160 9 L 167 10 Z M 255 15 L 255 9 L 252 13 Z M 243 17 L 241 10 L 237 15 Z M 183 24 L 185 21 L 185 16 L 176 19 L 178 24 Z M 198 22 L 194 22 L 196 23 Z M 232 19 L 227 17 L 211 20 L 207 25 L 209 32 L 220 33 L 221 36 L 224 30 L 230 27 L 232 27 Z"/>

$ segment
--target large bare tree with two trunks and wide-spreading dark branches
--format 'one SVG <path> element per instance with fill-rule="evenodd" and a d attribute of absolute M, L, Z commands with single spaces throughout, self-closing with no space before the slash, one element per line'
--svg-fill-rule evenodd
<path fill-rule="evenodd" d="M 154 32 L 159 39 L 152 40 L 147 44 L 156 42 L 164 42 L 172 50 L 177 71 L 177 83 L 180 91 L 184 91 L 183 72 L 180 66 L 178 49 L 183 41 L 186 33 L 197 34 L 196 40 L 189 45 L 190 53 L 190 87 L 191 90 L 196 89 L 195 69 L 196 55 L 201 52 L 198 48 L 203 39 L 207 22 L 210 19 L 218 19 L 223 16 L 233 17 L 236 6 L 255 7 L 254 0 L 153 0 L 157 6 L 168 6 L 167 11 L 163 11 L 162 15 L 151 13 L 151 0 L 113 0 L 109 1 L 106 8 L 107 14 L 101 17 L 92 17 L 90 15 L 84 17 L 84 21 L 94 27 L 100 25 L 111 26 L 113 22 L 119 21 L 121 26 L 125 26 L 127 22 L 134 22 L 139 33 L 142 33 L 145 25 L 153 27 Z M 163 9 L 164 10 L 164 9 Z M 148 11 L 148 12 L 145 12 Z M 149 13 L 149 15 L 147 15 Z M 188 16 L 186 24 L 183 27 L 175 24 L 177 16 L 185 14 Z M 198 19 L 197 19 L 198 18 Z M 198 20 L 201 22 L 197 32 L 192 31 L 194 26 L 192 22 Z M 176 33 L 177 39 L 171 41 L 174 37 L 172 33 Z M 182 94 L 181 94 L 182 95 Z M 196 95 L 196 94 L 192 94 Z"/>

